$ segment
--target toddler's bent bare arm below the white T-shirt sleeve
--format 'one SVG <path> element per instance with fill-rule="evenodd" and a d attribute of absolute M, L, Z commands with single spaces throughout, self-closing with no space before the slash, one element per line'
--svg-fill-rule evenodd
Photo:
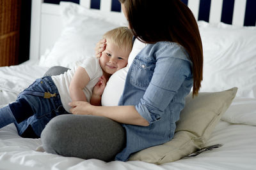
<path fill-rule="evenodd" d="M 69 86 L 72 101 L 87 101 L 83 88 L 89 81 L 90 77 L 86 70 L 81 66 L 77 67 L 76 73 L 74 74 Z"/>

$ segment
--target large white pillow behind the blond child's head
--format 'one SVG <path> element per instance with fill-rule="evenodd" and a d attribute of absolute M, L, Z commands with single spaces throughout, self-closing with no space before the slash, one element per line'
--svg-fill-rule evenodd
<path fill-rule="evenodd" d="M 40 66 L 72 67 L 78 60 L 94 56 L 103 34 L 119 24 L 75 3 L 60 3 L 63 31 L 52 50 L 40 58 Z"/>

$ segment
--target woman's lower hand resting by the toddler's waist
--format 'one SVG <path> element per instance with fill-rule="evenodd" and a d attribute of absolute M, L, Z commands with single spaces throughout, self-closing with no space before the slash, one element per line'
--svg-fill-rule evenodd
<path fill-rule="evenodd" d="M 68 105 L 71 107 L 70 112 L 74 115 L 91 115 L 89 112 L 89 108 L 92 105 L 88 102 L 73 101 L 71 103 L 68 103 Z"/>

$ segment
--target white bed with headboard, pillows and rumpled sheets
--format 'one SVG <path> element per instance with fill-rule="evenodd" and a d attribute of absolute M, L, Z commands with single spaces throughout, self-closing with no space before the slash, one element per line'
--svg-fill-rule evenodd
<path fill-rule="evenodd" d="M 17 66 L 0 67 L 0 107 L 15 101 L 19 92 L 43 76 L 49 67 L 72 67 L 83 57 L 92 56 L 104 32 L 127 25 L 117 1 L 45 2 L 32 1 L 29 60 Z M 221 92 L 225 97 L 222 92 L 238 88 L 235 88 L 236 97 L 221 110 L 204 141 L 204 146 L 222 145 L 220 148 L 208 148 L 196 156 L 183 155 L 160 163 L 138 155 L 127 162 L 84 160 L 40 152 L 40 139 L 21 138 L 15 125 L 10 124 L 0 129 L 0 169 L 255 169 L 256 27 L 253 10 L 256 3 L 254 0 L 183 2 L 198 19 L 204 46 L 204 80 L 200 93 L 216 96 Z M 124 81 L 124 73 L 125 69 L 117 78 Z M 225 103 L 221 99 L 216 98 L 216 103 Z M 102 100 L 105 105 L 111 105 L 118 97 L 107 100 L 102 96 Z M 204 105 L 203 101 L 199 105 Z"/>

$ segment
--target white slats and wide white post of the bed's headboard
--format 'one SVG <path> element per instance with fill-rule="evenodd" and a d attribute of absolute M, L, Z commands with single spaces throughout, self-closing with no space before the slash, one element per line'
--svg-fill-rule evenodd
<path fill-rule="evenodd" d="M 202 0 L 201 0 L 202 1 Z M 90 0 L 80 0 L 80 5 L 90 8 Z M 200 0 L 188 0 L 188 6 L 198 18 Z M 223 0 L 212 0 L 209 23 L 218 23 L 221 20 Z M 124 15 L 120 12 L 110 11 L 111 0 L 100 2 L 99 13 L 124 22 Z M 232 25 L 243 26 L 246 0 L 235 0 Z M 30 60 L 38 60 L 45 50 L 51 47 L 60 36 L 62 29 L 60 10 L 58 4 L 44 3 L 43 0 L 32 1 L 31 11 L 31 37 L 30 37 Z"/>

